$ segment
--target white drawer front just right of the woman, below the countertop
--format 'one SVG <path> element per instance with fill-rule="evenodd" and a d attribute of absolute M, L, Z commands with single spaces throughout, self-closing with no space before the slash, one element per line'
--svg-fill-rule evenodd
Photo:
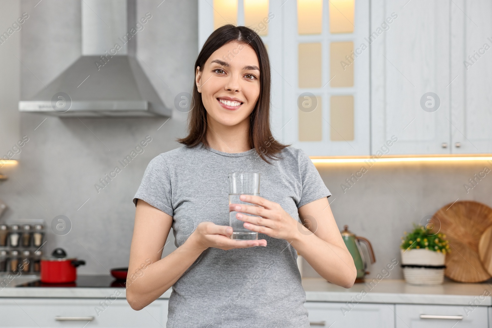
<path fill-rule="evenodd" d="M 306 302 L 304 306 L 309 312 L 309 323 L 313 328 L 395 327 L 394 304 L 354 303 L 348 307 L 347 303 Z"/>

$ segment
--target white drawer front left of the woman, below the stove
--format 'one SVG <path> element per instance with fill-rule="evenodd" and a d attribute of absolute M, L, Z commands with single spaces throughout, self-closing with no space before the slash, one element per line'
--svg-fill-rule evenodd
<path fill-rule="evenodd" d="M 114 297 L 113 297 L 114 298 Z M 108 297 L 108 299 L 110 299 Z M 140 311 L 126 299 L 104 298 L 0 298 L 1 327 L 165 327 L 167 299 L 157 299 Z M 97 312 L 96 308 L 103 310 Z M 58 321 L 56 317 L 93 317 L 92 321 Z"/>

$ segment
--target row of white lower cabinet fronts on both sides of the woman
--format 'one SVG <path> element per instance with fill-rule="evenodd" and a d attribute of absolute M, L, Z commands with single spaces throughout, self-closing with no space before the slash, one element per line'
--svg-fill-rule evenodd
<path fill-rule="evenodd" d="M 491 306 L 379 304 L 307 301 L 310 327 L 319 328 L 452 328 L 489 326 Z M 126 299 L 0 298 L 0 327 L 164 328 L 167 299 L 140 311 Z M 426 317 L 427 316 L 427 317 Z M 441 316 L 441 317 L 437 317 Z"/>

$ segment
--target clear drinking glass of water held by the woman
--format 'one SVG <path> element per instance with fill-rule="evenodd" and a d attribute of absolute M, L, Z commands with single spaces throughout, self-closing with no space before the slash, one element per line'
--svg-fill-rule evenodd
<path fill-rule="evenodd" d="M 236 217 L 238 212 L 235 209 L 235 205 L 232 204 L 246 204 L 258 206 L 251 203 L 243 202 L 239 199 L 241 195 L 260 195 L 260 174 L 259 173 L 244 173 L 234 172 L 229 173 L 229 225 L 232 227 L 231 239 L 248 240 L 258 239 L 258 233 L 246 229 L 243 224 L 244 221 L 239 220 Z M 250 216 L 258 216 L 248 213 L 243 213 Z"/>

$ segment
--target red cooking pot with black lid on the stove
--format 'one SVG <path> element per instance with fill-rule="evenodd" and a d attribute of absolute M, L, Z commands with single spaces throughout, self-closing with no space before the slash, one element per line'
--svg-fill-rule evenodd
<path fill-rule="evenodd" d="M 66 283 L 77 280 L 77 267 L 86 261 L 67 258 L 62 248 L 55 248 L 51 257 L 41 258 L 41 282 Z"/>

